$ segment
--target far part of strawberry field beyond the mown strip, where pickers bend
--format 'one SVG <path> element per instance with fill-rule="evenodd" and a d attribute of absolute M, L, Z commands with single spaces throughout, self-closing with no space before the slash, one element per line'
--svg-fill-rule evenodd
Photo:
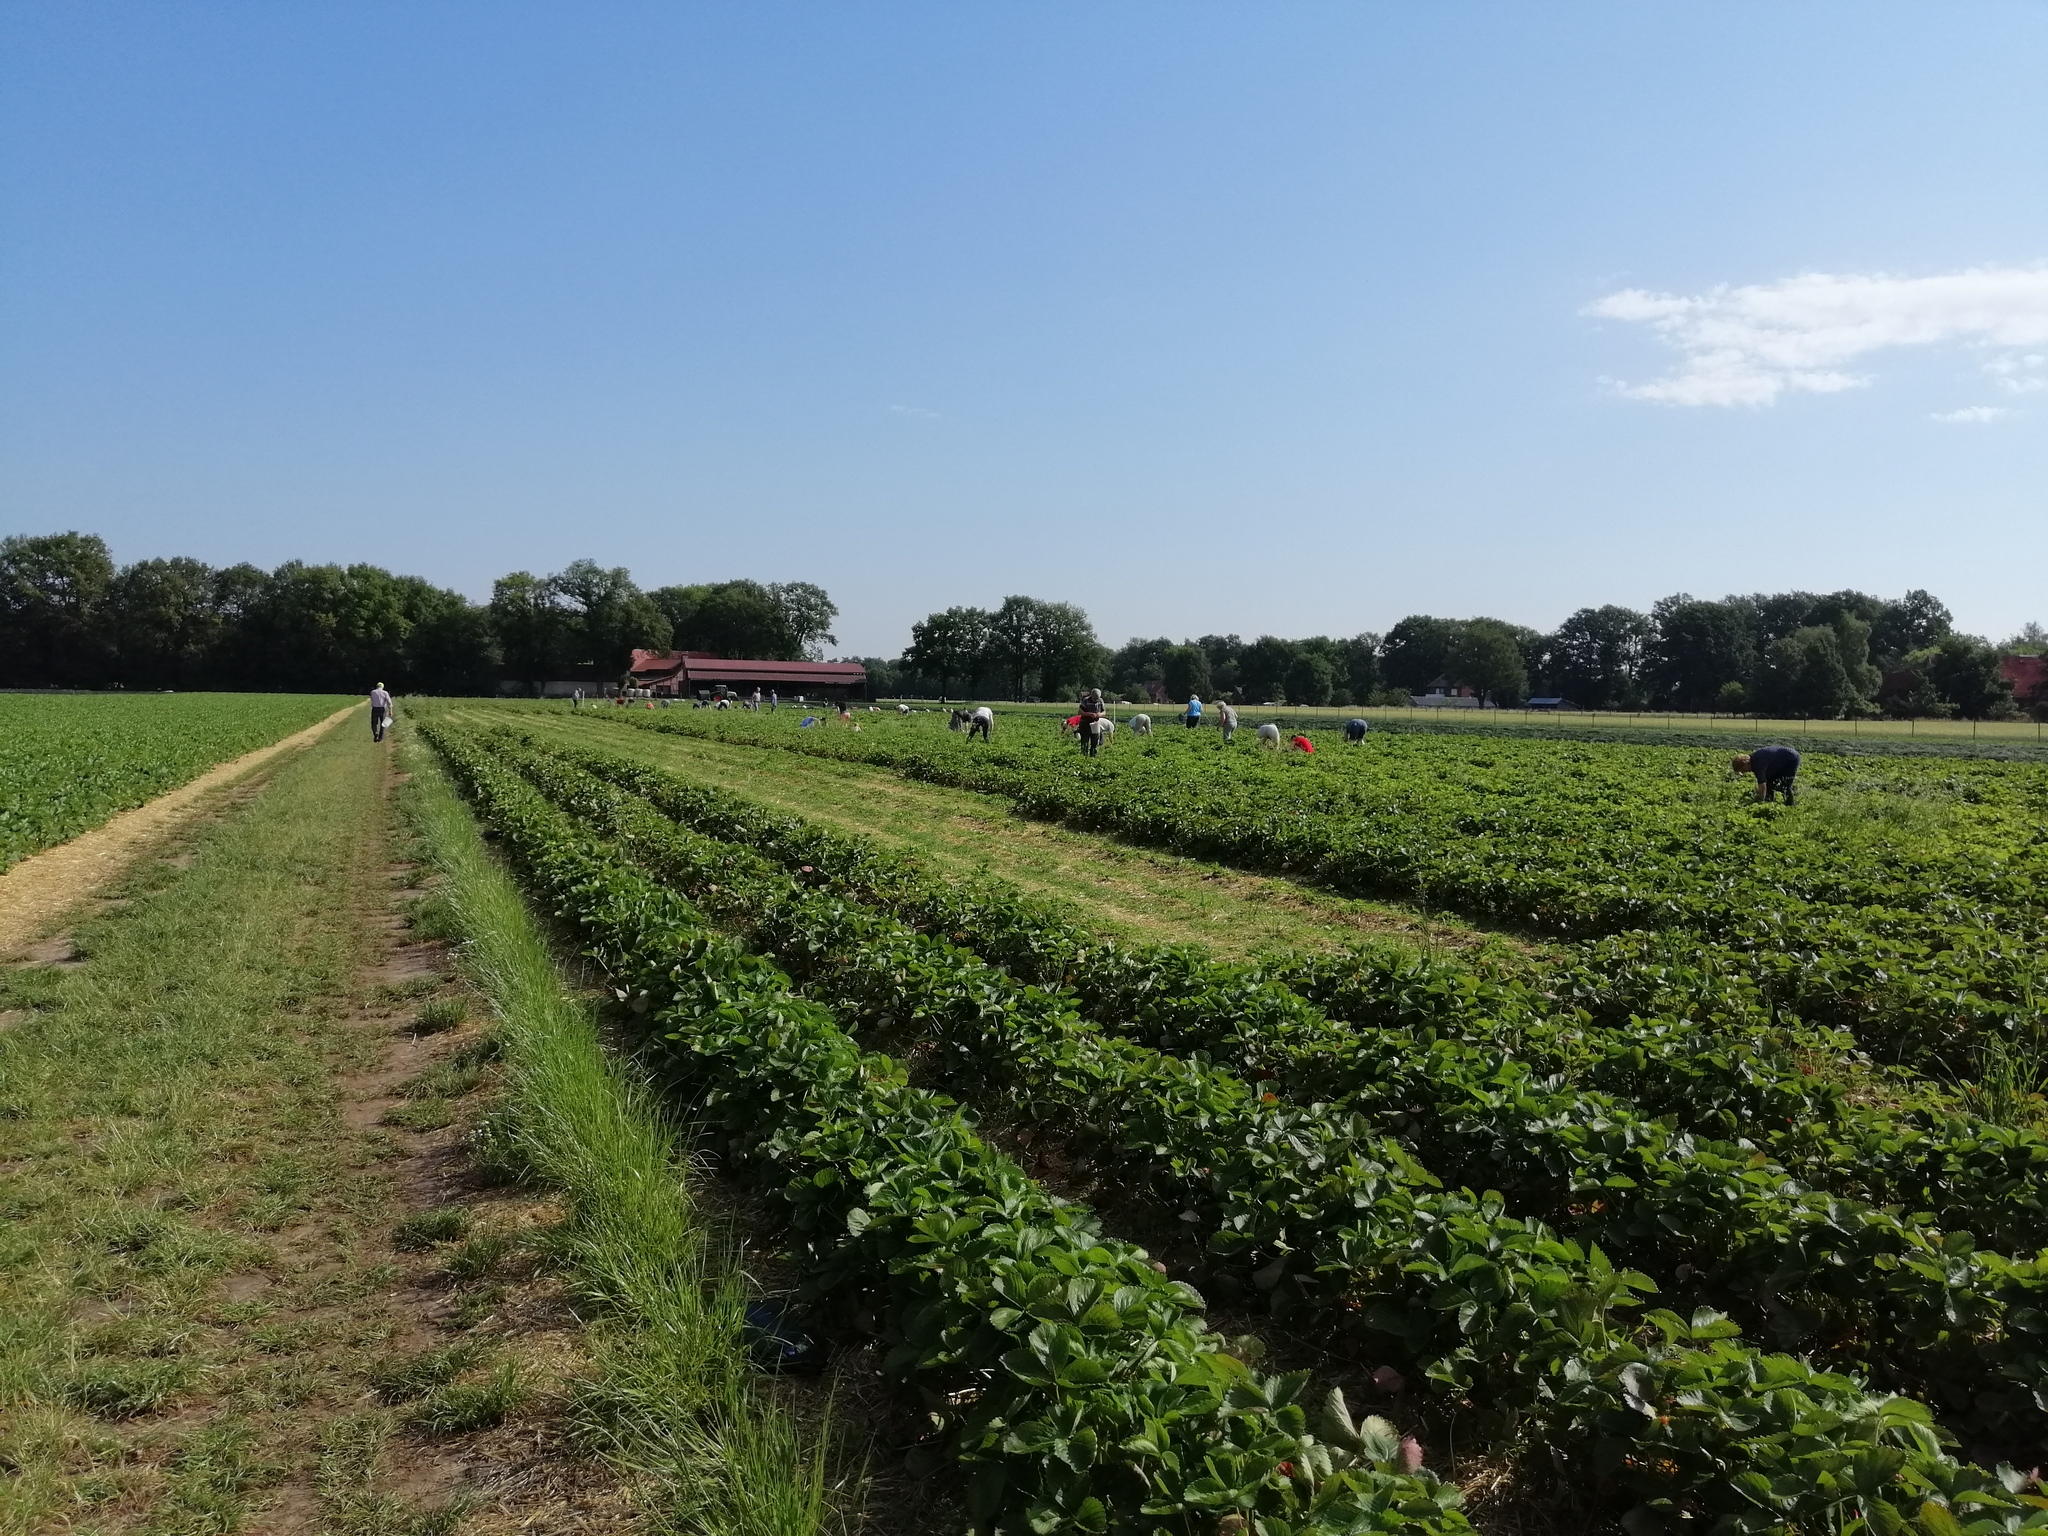
<path fill-rule="evenodd" d="M 1374 731 L 1348 748 L 1323 729 L 1305 758 L 1247 731 L 1225 748 L 1214 729 L 1161 727 L 1087 760 L 1042 715 L 1006 717 L 985 743 L 936 713 L 854 719 L 586 711 L 606 735 L 864 762 L 1182 858 L 1604 940 L 1624 969 L 1667 965 L 1669 936 L 1688 963 L 1894 1061 L 1968 1063 L 1987 1038 L 2032 1049 L 2048 995 L 2038 762 L 1815 754 L 1788 811 L 1751 803 L 1724 743 Z"/>

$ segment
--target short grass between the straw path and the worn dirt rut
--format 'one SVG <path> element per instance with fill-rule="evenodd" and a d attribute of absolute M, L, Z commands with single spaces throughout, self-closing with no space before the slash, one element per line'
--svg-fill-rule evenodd
<path fill-rule="evenodd" d="M 365 1319 L 289 1319 L 369 1294 L 375 1266 L 344 1255 L 315 1282 L 272 1239 L 381 1229 L 393 1198 L 332 1092 L 381 1049 L 346 1018 L 381 815 L 379 764 L 352 748 L 281 764 L 193 834 L 188 868 L 133 870 L 127 905 L 78 928 L 86 965 L 0 971 L 0 1010 L 23 1010 L 0 1032 L 8 1536 L 98 1530 L 102 1507 L 123 1530 L 248 1528 L 311 1458 L 303 1407 L 360 1393 Z M 229 1303 L 231 1276 L 260 1276 L 264 1303 Z"/>

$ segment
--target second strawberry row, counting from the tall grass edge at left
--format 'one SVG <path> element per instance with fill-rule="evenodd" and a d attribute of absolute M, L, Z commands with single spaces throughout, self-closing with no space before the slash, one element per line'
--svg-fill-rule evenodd
<path fill-rule="evenodd" d="M 1128 1040 L 1106 1040 L 1079 1026 L 1057 999 L 993 975 L 946 940 L 911 934 L 877 913 L 850 911 L 831 893 L 778 879 L 743 850 L 686 834 L 651 807 L 635 809 L 629 797 L 565 764 L 498 752 L 578 813 L 618 834 L 627 850 L 666 879 L 715 893 L 727 920 L 748 922 L 756 940 L 805 969 L 813 985 L 823 979 L 829 995 L 870 1014 L 913 1012 L 985 1085 L 1008 1077 L 1012 1096 L 1040 1116 L 1090 1130 L 1130 1161 L 1149 1153 L 1151 1182 L 1169 1204 L 1214 1210 L 1210 1243 L 1227 1249 L 1227 1260 L 1260 1266 L 1260 1278 L 1272 1286 L 1288 1276 L 1292 1257 L 1305 1260 L 1292 1274 L 1311 1280 L 1311 1272 L 1321 1272 L 1335 1282 L 1327 1303 L 1337 1315 L 1358 1309 L 1354 1321 L 1403 1348 L 1407 1362 L 1452 1397 L 1470 1393 L 1495 1411 L 1532 1415 L 1528 1432 L 1538 1444 L 1569 1450 L 1583 1440 L 1585 1425 L 1575 1423 L 1587 1409 L 1583 1393 L 1563 1389 L 1606 1384 L 1604 1427 L 1634 1432 L 1634 1444 L 1614 1446 L 1610 1460 L 1620 1462 L 1622 1477 L 1638 1491 L 1683 1507 L 1710 1501 L 1710 1491 L 1724 1487 L 1749 1456 L 1782 1454 L 1782 1442 L 1765 1450 L 1741 1432 L 1731 1444 L 1724 1436 L 1733 1421 L 1780 1405 L 1780 1393 L 1794 1380 L 1800 1395 L 1819 1393 L 1823 1401 L 1858 1391 L 1847 1378 L 1733 1341 L 1688 1350 L 1688 1325 L 1671 1313 L 1653 1317 L 1671 1339 L 1647 1358 L 1634 1356 L 1620 1343 L 1614 1315 L 1642 1286 L 1640 1276 L 1616 1274 L 1597 1249 L 1587 1253 L 1536 1223 L 1505 1217 L 1497 1196 L 1436 1194 L 1397 1147 L 1372 1139 L 1356 1120 L 1313 1106 L 1288 1108 L 1200 1063 L 1174 1063 Z M 1190 1208 L 1190 1214 L 1200 1212 Z M 1702 1335 L 1735 1333 L 1712 1313 L 1698 1313 L 1696 1323 L 1704 1323 Z M 1630 1397 L 1638 1405 L 1649 1399 L 1614 1372 L 1618 1350 L 1630 1366 L 1649 1370 L 1638 1384 L 1679 1358 L 1704 1366 L 1704 1356 L 1712 1356 L 1712 1366 L 1679 1368 L 1692 1389 L 1667 1397 L 1667 1413 L 1647 1415 L 1655 1423 L 1630 1421 Z M 1688 1397 L 1694 1389 L 1704 1397 Z M 1759 1401 L 1745 1405 L 1751 1393 Z M 1686 1411 L 1708 1403 L 1722 1417 L 1718 1432 Z M 1903 1399 L 1892 1403 L 1896 1411 L 1925 1413 L 1907 1409 Z M 1772 1419 L 1792 1427 L 1776 1413 L 1763 1421 Z M 1747 1427 L 1757 1423 L 1751 1419 Z M 1708 1440 L 1696 1438 L 1702 1430 Z M 1833 1452 L 1819 1454 L 1802 1475 L 1819 1477 L 1812 1489 L 1823 1503 L 1815 1507 L 1827 1507 L 1829 1499 L 1839 1501 L 1841 1487 L 1821 1477 Z M 1737 1477 L 1737 1487 L 1753 1495 L 1759 1485 Z"/>

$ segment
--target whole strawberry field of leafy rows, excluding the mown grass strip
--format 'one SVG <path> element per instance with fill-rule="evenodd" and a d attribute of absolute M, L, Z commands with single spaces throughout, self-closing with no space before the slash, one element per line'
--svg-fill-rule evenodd
<path fill-rule="evenodd" d="M 2048 768 L 492 709 L 426 731 L 981 1530 L 2048 1530 Z M 1006 727 L 1010 723 L 1006 721 Z M 858 760 L 1493 920 L 1108 938 L 618 752 Z M 2021 1470 L 2013 1470 L 2013 1468 Z M 1477 1479 L 1477 1483 L 1475 1483 Z M 1235 1522 L 1235 1524 L 1233 1524 Z"/>

